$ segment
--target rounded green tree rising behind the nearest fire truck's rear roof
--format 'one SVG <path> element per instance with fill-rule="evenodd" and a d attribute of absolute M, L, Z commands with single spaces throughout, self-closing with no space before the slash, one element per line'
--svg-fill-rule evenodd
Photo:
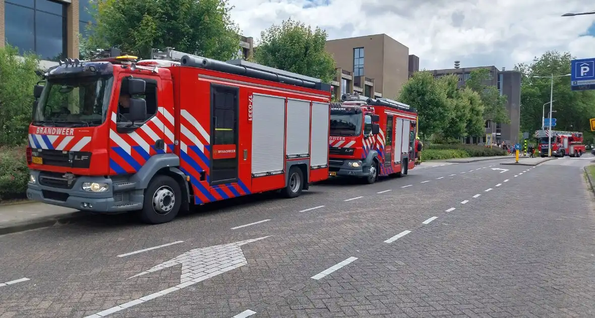
<path fill-rule="evenodd" d="M 255 49 L 256 63 L 316 77 L 330 83 L 335 76 L 333 55 L 324 45 L 327 32 L 295 21 L 283 21 L 261 32 L 261 42 Z"/>

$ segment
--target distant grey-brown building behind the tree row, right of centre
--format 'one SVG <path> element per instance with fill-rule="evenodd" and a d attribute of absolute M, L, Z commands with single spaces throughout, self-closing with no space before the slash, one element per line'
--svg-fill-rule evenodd
<path fill-rule="evenodd" d="M 471 71 L 478 68 L 487 68 L 490 70 L 490 80 L 486 82 L 486 85 L 496 86 L 500 91 L 500 95 L 506 95 L 508 97 L 506 111 L 508 111 L 509 119 L 511 120 L 509 124 L 492 123 L 486 120 L 486 134 L 492 133 L 494 141 L 512 144 L 519 142 L 518 135 L 521 124 L 521 73 L 518 71 L 506 71 L 504 68 L 500 71 L 495 66 L 450 68 L 447 70 L 431 70 L 431 72 L 436 78 L 447 74 L 457 74 L 459 76 L 460 87 L 469 79 Z M 480 138 L 468 137 L 463 142 L 465 144 L 486 142 L 486 136 Z"/>

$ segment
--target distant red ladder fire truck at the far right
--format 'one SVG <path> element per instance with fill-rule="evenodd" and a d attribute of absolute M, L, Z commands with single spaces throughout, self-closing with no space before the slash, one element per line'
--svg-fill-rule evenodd
<path fill-rule="evenodd" d="M 581 157 L 585 153 L 583 144 L 583 133 L 563 132 L 560 130 L 551 130 L 552 135 L 552 155 L 556 157 Z M 547 157 L 549 153 L 550 130 L 536 130 L 535 137 L 538 139 L 539 155 L 541 158 Z"/>

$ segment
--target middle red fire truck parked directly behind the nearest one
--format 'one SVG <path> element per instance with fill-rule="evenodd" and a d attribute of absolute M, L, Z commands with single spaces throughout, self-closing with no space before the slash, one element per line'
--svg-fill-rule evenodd
<path fill-rule="evenodd" d="M 387 98 L 343 94 L 331 104 L 330 176 L 405 176 L 415 167 L 417 110 Z"/>

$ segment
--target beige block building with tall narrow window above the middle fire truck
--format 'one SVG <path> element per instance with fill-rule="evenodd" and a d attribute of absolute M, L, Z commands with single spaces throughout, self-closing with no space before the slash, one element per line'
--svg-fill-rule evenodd
<path fill-rule="evenodd" d="M 328 40 L 326 50 L 337 63 L 332 83 L 337 96 L 358 92 L 392 99 L 399 95 L 410 74 L 419 70 L 419 58 L 385 34 Z"/>

